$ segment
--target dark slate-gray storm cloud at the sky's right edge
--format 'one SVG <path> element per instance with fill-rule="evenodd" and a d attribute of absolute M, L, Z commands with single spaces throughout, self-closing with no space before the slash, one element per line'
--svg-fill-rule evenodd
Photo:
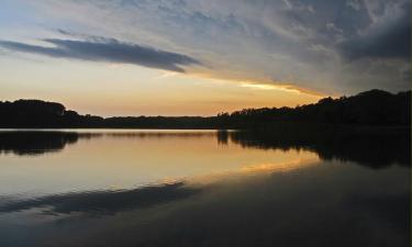
<path fill-rule="evenodd" d="M 411 55 L 411 21 L 410 11 L 390 25 L 372 30 L 343 42 L 338 46 L 341 54 L 348 59 L 359 58 L 401 58 Z"/>

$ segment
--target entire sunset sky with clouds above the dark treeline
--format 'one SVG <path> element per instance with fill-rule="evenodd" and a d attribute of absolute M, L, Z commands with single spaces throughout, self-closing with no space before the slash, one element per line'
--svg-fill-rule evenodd
<path fill-rule="evenodd" d="M 411 88 L 410 0 L 0 0 L 0 100 L 214 115 Z"/>

